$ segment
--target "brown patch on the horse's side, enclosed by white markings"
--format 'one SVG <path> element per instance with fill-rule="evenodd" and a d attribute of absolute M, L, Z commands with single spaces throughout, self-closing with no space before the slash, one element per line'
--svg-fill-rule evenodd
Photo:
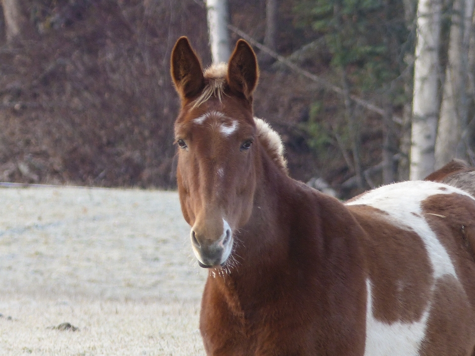
<path fill-rule="evenodd" d="M 418 321 L 430 299 L 433 270 L 421 237 L 384 212 L 350 205 L 365 230 L 362 243 L 372 284 L 373 315 L 382 322 Z"/>

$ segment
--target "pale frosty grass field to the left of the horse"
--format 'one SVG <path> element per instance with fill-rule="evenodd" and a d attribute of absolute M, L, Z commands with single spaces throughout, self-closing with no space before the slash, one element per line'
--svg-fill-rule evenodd
<path fill-rule="evenodd" d="M 188 235 L 176 192 L 0 189 L 0 355 L 203 355 Z"/>

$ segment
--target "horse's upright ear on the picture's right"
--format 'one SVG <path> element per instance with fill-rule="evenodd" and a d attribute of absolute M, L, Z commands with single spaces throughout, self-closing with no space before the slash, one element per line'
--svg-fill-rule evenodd
<path fill-rule="evenodd" d="M 231 89 L 250 99 L 258 80 L 259 67 L 256 54 L 246 41 L 239 40 L 229 60 L 228 84 Z"/>

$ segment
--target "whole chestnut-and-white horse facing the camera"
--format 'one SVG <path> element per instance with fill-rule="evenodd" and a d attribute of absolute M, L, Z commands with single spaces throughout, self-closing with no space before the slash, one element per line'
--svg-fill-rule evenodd
<path fill-rule="evenodd" d="M 203 72 L 182 37 L 171 75 L 208 355 L 475 355 L 474 198 L 409 181 L 343 204 L 290 178 L 279 135 L 253 117 L 245 41 Z"/>

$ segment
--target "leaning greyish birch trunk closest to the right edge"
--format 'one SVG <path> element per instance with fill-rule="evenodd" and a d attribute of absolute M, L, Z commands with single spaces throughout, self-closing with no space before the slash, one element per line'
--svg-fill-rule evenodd
<path fill-rule="evenodd" d="M 474 4 L 475 0 L 454 2 L 448 64 L 435 141 L 435 169 L 454 157 L 466 158 L 462 133 L 468 121 L 468 62 Z"/>

